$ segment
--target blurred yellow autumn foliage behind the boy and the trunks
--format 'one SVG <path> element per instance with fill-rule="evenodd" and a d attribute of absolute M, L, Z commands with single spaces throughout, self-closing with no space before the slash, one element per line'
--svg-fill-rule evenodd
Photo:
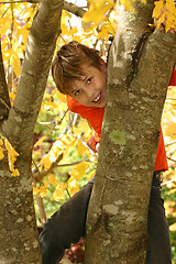
<path fill-rule="evenodd" d="M 173 7 L 172 1 L 167 1 L 168 7 Z M 70 2 L 74 6 L 69 6 Z M 127 9 L 133 10 L 131 1 L 121 2 Z M 164 1 L 158 2 L 156 16 L 164 4 Z M 37 3 L 24 1 L 0 2 L 1 48 L 11 103 L 15 98 L 36 8 Z M 118 14 L 119 4 L 116 0 L 69 1 L 63 10 L 62 34 L 56 51 L 75 40 L 99 50 L 106 61 L 116 33 Z M 162 124 L 169 163 L 169 170 L 164 173 L 163 196 L 173 261 L 176 263 L 176 89 L 172 86 L 168 87 Z M 68 111 L 66 98 L 57 91 L 50 74 L 33 139 L 33 190 L 38 226 L 94 177 L 97 154 L 86 144 L 91 133 L 87 121 Z M 82 251 L 81 240 L 67 254 L 73 263 L 82 263 Z"/>

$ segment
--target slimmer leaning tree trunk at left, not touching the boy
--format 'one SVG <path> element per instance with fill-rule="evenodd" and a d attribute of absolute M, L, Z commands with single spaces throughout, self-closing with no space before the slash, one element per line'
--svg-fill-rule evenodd
<path fill-rule="evenodd" d="M 33 207 L 31 153 L 33 130 L 61 32 L 62 8 L 63 0 L 43 0 L 38 4 L 9 117 L 8 108 L 6 111 L 1 109 L 9 99 L 4 78 L 0 79 L 0 133 L 19 153 L 14 165 L 20 170 L 19 177 L 11 176 L 7 155 L 0 161 L 0 262 L 4 264 L 42 263 Z"/>

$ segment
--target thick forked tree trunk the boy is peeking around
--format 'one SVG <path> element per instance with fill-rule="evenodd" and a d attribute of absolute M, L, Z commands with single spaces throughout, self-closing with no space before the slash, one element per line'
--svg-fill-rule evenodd
<path fill-rule="evenodd" d="M 147 210 L 176 34 L 148 29 L 153 3 L 121 10 L 87 219 L 85 264 L 145 263 Z"/>

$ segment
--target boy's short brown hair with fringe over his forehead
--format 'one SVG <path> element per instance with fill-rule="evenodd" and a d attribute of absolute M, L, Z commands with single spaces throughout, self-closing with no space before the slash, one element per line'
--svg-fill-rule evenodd
<path fill-rule="evenodd" d="M 52 76 L 62 94 L 68 95 L 73 80 L 80 79 L 84 75 L 81 70 L 84 63 L 101 69 L 99 52 L 76 41 L 65 44 L 57 52 L 52 63 Z"/>

